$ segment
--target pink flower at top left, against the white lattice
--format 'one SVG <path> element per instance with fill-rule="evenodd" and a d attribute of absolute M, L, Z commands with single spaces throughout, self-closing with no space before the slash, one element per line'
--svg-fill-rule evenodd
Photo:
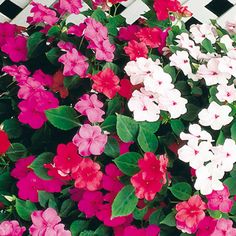
<path fill-rule="evenodd" d="M 54 10 L 36 2 L 31 2 L 31 5 L 33 7 L 30 12 L 33 13 L 33 17 L 27 18 L 28 23 L 38 24 L 44 22 L 49 25 L 54 25 L 58 21 L 57 14 Z"/>

